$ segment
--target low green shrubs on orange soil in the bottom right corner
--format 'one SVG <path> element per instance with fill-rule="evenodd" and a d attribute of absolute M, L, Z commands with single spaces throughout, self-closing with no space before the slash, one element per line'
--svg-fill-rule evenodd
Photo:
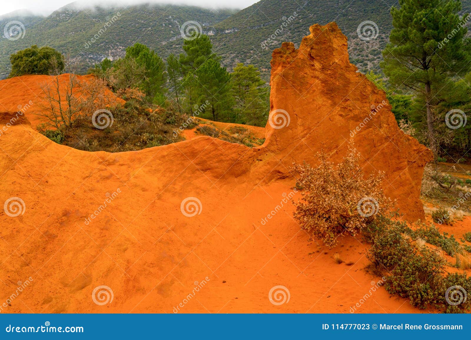
<path fill-rule="evenodd" d="M 437 235 L 433 226 L 430 229 L 419 226 L 417 232 L 408 228 L 406 222 L 393 221 L 384 216 L 377 217 L 365 228 L 364 236 L 372 243 L 366 257 L 377 272 L 390 274 L 385 275 L 385 289 L 390 294 L 409 299 L 412 306 L 421 309 L 433 306 L 447 313 L 469 310 L 469 300 L 462 299 L 459 304 L 453 305 L 459 295 L 453 295 L 450 291 L 460 289 L 471 292 L 471 277 L 465 273 L 447 274 L 446 262 L 437 250 L 426 246 L 415 249 L 412 237 L 418 234 L 429 235 L 432 240 L 446 237 Z"/>

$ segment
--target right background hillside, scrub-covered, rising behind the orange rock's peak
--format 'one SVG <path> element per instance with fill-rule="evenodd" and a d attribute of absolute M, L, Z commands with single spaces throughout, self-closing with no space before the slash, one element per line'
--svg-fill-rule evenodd
<path fill-rule="evenodd" d="M 462 2 L 463 11 L 470 12 L 471 0 Z M 224 56 L 226 65 L 253 63 L 267 73 L 270 70 L 272 50 L 283 41 L 292 41 L 299 46 L 302 37 L 309 34 L 310 25 L 335 21 L 348 37 L 351 63 L 356 64 L 360 71 L 366 72 L 379 68 L 381 51 L 392 29 L 392 5 L 398 6 L 398 1 L 262 0 L 216 24 L 218 34 L 212 40 L 218 54 Z M 364 21 L 373 21 L 378 26 L 375 39 L 361 40 L 358 37 L 357 28 Z M 223 33 L 224 31 L 231 32 Z M 263 48 L 262 43 L 272 34 L 276 35 L 275 39 L 272 39 L 273 42 L 268 47 Z"/>

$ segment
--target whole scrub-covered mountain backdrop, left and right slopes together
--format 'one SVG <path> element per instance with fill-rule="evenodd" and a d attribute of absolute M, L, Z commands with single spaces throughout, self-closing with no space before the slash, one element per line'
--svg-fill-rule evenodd
<path fill-rule="evenodd" d="M 470 12 L 471 0 L 462 2 L 463 11 Z M 283 41 L 299 45 L 310 25 L 335 21 L 349 39 L 351 62 L 366 72 L 378 69 L 392 28 L 390 6 L 394 4 L 396 0 L 261 0 L 238 12 L 175 5 L 77 10 L 68 5 L 46 18 L 16 18 L 24 21 L 25 36 L 16 41 L 0 39 L 0 78 L 8 75 L 9 55 L 33 44 L 70 54 L 80 62 L 81 71 L 105 57 L 121 57 L 136 41 L 165 59 L 169 53 L 182 52 L 180 26 L 190 20 L 210 35 L 214 51 L 229 70 L 240 62 L 253 63 L 265 79 L 274 48 Z M 2 26 L 5 20 L 0 17 Z M 365 21 L 378 27 L 372 40 L 358 37 L 357 28 Z M 106 23 L 106 31 L 100 32 Z M 94 36 L 98 38 L 93 42 Z"/>

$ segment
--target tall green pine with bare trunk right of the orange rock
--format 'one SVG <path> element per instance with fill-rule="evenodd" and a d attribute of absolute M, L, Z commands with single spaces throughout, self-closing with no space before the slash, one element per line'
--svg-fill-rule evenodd
<path fill-rule="evenodd" d="M 427 138 L 437 159 L 434 98 L 451 77 L 470 69 L 470 45 L 464 38 L 468 14 L 458 15 L 461 2 L 456 0 L 399 0 L 399 6 L 391 8 L 394 28 L 381 67 L 393 86 L 406 87 L 423 100 Z"/>

